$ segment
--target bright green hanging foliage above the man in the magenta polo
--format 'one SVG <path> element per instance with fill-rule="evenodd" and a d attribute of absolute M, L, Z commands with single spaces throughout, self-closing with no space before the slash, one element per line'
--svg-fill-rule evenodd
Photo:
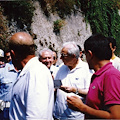
<path fill-rule="evenodd" d="M 90 0 L 84 3 L 82 11 L 90 23 L 92 33 L 114 37 L 117 41 L 117 54 L 120 51 L 120 16 L 118 0 Z M 81 6 L 83 3 L 81 2 Z"/>

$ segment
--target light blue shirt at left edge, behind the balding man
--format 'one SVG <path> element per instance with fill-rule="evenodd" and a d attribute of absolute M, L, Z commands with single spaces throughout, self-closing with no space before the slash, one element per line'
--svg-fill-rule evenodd
<path fill-rule="evenodd" d="M 0 68 L 0 100 L 10 101 L 12 87 L 17 80 L 18 72 L 12 62 L 6 63 L 4 68 Z"/>

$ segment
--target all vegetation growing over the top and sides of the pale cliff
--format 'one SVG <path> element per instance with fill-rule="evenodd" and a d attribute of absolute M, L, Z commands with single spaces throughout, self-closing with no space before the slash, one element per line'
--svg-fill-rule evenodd
<path fill-rule="evenodd" d="M 85 15 L 85 21 L 90 23 L 92 33 L 102 33 L 112 36 L 117 40 L 117 53 L 120 51 L 120 9 L 119 0 L 38 0 L 46 17 L 50 13 L 57 13 L 60 20 L 54 21 L 54 32 L 60 32 L 61 22 L 66 16 L 77 12 Z M 8 37 L 8 21 L 17 21 L 20 29 L 30 26 L 34 13 L 34 0 L 29 1 L 2 1 L 0 2 L 0 47 L 4 47 L 4 41 Z M 4 17 L 6 16 L 6 18 Z M 6 19 L 6 21 L 5 21 Z M 62 24 L 64 25 L 64 24 Z"/>

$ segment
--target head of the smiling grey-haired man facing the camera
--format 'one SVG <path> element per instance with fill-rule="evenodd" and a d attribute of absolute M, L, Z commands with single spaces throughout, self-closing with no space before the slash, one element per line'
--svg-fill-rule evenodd
<path fill-rule="evenodd" d="M 39 52 L 39 60 L 50 69 L 53 64 L 53 51 L 48 48 L 44 48 Z"/>

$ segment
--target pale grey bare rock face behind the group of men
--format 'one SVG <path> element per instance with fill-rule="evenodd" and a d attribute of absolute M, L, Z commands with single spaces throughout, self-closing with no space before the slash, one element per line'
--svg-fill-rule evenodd
<path fill-rule="evenodd" d="M 84 41 L 92 34 L 90 25 L 84 21 L 84 16 L 78 12 L 64 19 L 64 26 L 60 29 L 60 34 L 53 32 L 54 21 L 60 19 L 57 14 L 50 14 L 47 18 L 38 2 L 34 2 L 32 32 L 36 34 L 35 43 L 38 47 L 36 54 L 44 47 L 52 47 L 60 53 L 62 44 L 66 41 L 75 41 L 83 48 Z"/>

